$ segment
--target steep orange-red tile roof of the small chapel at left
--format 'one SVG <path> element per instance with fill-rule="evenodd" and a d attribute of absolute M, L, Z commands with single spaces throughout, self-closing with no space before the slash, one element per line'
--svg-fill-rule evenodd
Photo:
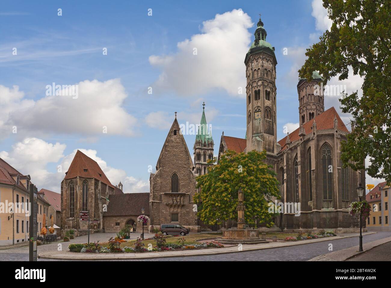
<path fill-rule="evenodd" d="M 68 172 L 66 172 L 65 179 L 72 179 L 77 176 L 98 179 L 115 189 L 115 186 L 111 184 L 102 169 L 99 167 L 98 163 L 80 150 L 77 150 Z"/>

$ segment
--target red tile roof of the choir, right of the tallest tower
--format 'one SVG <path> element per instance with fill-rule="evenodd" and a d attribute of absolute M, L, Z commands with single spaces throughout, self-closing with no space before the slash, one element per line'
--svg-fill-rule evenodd
<path fill-rule="evenodd" d="M 303 124 L 305 135 L 310 134 L 312 132 L 312 123 L 314 123 L 314 121 L 316 123 L 316 130 L 334 129 L 334 117 L 337 117 L 338 130 L 349 132 L 349 130 L 346 128 L 345 124 L 339 117 L 337 111 L 335 111 L 335 108 L 331 107 L 325 112 L 316 116 L 314 119 L 311 119 L 310 121 L 307 121 Z M 299 131 L 300 127 L 289 134 L 289 139 L 291 140 L 291 142 L 300 139 Z M 287 136 L 278 141 L 278 143 L 281 145 L 281 151 L 287 148 L 286 141 Z"/>

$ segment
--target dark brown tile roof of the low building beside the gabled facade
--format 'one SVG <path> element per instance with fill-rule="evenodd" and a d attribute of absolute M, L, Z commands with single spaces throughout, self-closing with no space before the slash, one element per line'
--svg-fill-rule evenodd
<path fill-rule="evenodd" d="M 149 192 L 113 194 L 109 195 L 107 212 L 103 212 L 103 216 L 140 216 L 142 208 L 145 215 L 149 215 Z"/>

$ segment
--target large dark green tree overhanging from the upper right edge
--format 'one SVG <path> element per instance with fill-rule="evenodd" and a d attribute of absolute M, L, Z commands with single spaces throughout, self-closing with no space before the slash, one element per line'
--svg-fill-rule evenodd
<path fill-rule="evenodd" d="M 323 6 L 332 27 L 307 49 L 300 77 L 310 80 L 319 71 L 327 83 L 333 76 L 347 79 L 349 69 L 361 76 L 362 98 L 346 87 L 340 99 L 354 125 L 341 158 L 344 166 L 359 170 L 369 156 L 367 173 L 391 183 L 391 1 L 323 0 Z"/>

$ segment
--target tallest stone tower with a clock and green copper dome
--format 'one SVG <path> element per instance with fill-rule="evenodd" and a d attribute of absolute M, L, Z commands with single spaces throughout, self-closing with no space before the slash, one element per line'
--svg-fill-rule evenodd
<path fill-rule="evenodd" d="M 246 64 L 247 98 L 247 147 L 277 154 L 281 146 L 277 142 L 276 128 L 276 65 L 274 47 L 266 42 L 264 23 L 259 18 L 252 43 L 244 63 Z"/>

